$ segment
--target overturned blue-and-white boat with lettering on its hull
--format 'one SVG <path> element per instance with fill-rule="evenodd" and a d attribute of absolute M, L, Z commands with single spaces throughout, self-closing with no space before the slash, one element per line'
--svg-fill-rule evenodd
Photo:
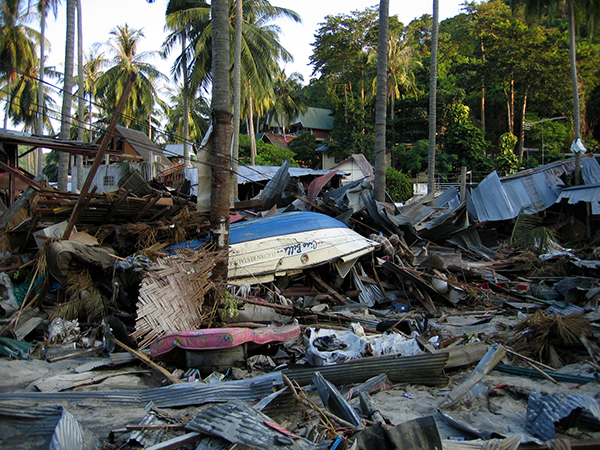
<path fill-rule="evenodd" d="M 345 276 L 379 243 L 326 214 L 295 211 L 237 222 L 229 230 L 229 282 L 256 284 L 333 263 Z"/>

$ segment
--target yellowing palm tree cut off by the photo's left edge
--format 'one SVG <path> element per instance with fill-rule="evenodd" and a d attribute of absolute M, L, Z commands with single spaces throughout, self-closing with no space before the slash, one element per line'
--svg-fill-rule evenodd
<path fill-rule="evenodd" d="M 0 2 L 0 75 L 6 92 L 4 128 L 10 113 L 11 85 L 23 74 L 34 73 L 38 64 L 34 43 L 39 35 L 25 25 L 29 18 L 29 10 L 21 0 Z"/>

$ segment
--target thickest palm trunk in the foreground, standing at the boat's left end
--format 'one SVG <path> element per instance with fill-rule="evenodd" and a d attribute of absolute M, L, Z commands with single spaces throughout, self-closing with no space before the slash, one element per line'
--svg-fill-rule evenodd
<path fill-rule="evenodd" d="M 229 248 L 229 193 L 231 191 L 231 98 L 229 94 L 229 0 L 213 0 L 212 57 L 213 90 L 211 115 L 213 121 L 211 235 L 218 250 Z M 227 257 L 216 262 L 213 280 L 227 280 Z"/>

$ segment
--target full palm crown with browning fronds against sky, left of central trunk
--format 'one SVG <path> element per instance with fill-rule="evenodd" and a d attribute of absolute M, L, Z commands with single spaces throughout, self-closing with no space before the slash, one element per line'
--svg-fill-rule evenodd
<path fill-rule="evenodd" d="M 129 126 L 133 121 L 145 128 L 148 118 L 154 111 L 158 94 L 155 83 L 166 80 L 156 67 L 145 61 L 157 52 L 138 52 L 142 30 L 135 30 L 125 24 L 110 32 L 109 50 L 113 53 L 112 64 L 99 78 L 97 93 L 106 114 L 110 115 L 121 98 L 131 73 L 137 73 L 136 81 L 123 110 L 124 123 Z"/>

